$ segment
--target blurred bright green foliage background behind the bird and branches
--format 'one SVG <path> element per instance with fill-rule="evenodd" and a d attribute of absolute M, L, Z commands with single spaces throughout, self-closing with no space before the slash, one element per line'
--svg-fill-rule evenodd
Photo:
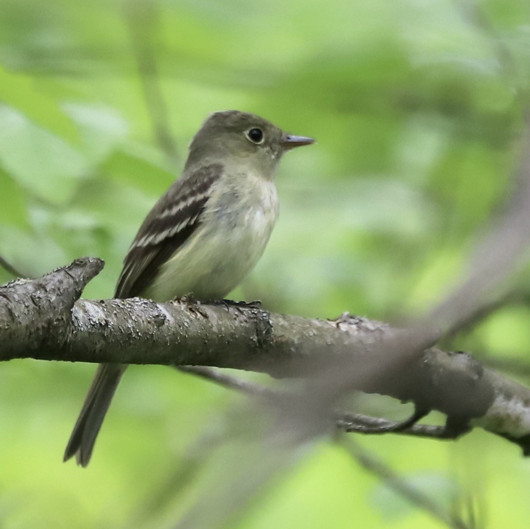
<path fill-rule="evenodd" d="M 272 311 L 421 314 L 511 190 L 527 0 L 0 0 L 0 11 L 0 254 L 28 276 L 103 258 L 85 297 L 112 295 L 139 224 L 215 110 L 318 140 L 282 161 L 278 225 L 232 296 Z M 528 307 L 506 307 L 448 346 L 524 363 L 529 324 Z M 61 458 L 94 366 L 0 367 L 3 529 L 171 527 L 202 487 L 173 479 L 183 457 L 245 402 L 170 368 L 132 367 L 82 470 Z M 465 511 L 471 496 L 485 526 L 528 527 L 530 463 L 515 446 L 482 431 L 359 440 L 448 508 Z M 230 526 L 440 523 L 321 440 Z"/>

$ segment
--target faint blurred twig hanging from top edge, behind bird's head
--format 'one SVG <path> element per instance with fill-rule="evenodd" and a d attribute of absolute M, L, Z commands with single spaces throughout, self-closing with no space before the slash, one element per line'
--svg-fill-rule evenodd
<path fill-rule="evenodd" d="M 158 6 L 156 2 L 133 0 L 126 4 L 125 15 L 145 104 L 156 141 L 167 158 L 175 163 L 178 152 L 169 125 L 169 112 L 160 87 L 154 51 L 154 39 L 162 33 Z"/>

